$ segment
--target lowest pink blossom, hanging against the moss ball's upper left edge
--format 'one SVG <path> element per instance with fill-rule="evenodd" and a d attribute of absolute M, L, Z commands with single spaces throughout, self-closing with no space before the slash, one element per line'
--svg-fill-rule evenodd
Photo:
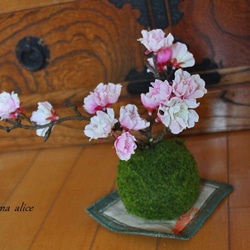
<path fill-rule="evenodd" d="M 137 148 L 136 139 L 129 132 L 123 132 L 115 141 L 116 154 L 121 160 L 128 161 Z"/>

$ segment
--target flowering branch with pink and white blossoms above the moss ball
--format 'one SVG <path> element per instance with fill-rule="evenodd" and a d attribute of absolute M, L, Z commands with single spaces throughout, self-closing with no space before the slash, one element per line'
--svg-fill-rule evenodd
<path fill-rule="evenodd" d="M 88 117 L 76 106 L 65 105 L 75 114 L 60 118 L 47 101 L 38 102 L 37 110 L 28 117 L 23 113 L 18 95 L 14 91 L 3 91 L 0 94 L 0 121 L 7 125 L 0 125 L 0 129 L 7 132 L 17 128 L 36 130 L 37 136 L 46 141 L 57 124 L 69 120 L 90 121 L 83 130 L 85 136 L 90 140 L 113 137 L 117 155 L 127 161 L 137 146 L 141 149 L 153 147 L 164 138 L 167 130 L 178 134 L 192 128 L 199 120 L 194 110 L 198 107 L 196 99 L 207 93 L 205 82 L 198 74 L 191 75 L 183 70 L 194 66 L 193 54 L 185 44 L 174 42 L 171 33 L 166 35 L 161 29 L 142 30 L 141 33 L 142 38 L 138 41 L 146 48 L 146 67 L 156 78 L 148 92 L 141 93 L 141 102 L 148 111 L 147 119 L 140 116 L 134 104 L 121 106 L 119 118 L 116 117 L 111 105 L 117 103 L 122 85 L 99 83 L 83 100 Z M 162 123 L 164 129 L 155 136 L 153 125 L 156 122 Z M 137 132 L 141 134 L 139 138 L 135 137 Z"/>

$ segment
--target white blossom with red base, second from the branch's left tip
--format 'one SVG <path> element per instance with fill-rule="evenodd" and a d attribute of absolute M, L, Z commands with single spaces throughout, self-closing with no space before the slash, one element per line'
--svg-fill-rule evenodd
<path fill-rule="evenodd" d="M 32 116 L 30 118 L 30 120 L 35 122 L 37 125 L 45 125 L 58 119 L 59 117 L 56 115 L 56 112 L 49 102 L 38 102 L 38 109 L 37 111 L 32 112 Z M 37 129 L 36 134 L 44 137 L 48 129 L 48 127 Z"/>

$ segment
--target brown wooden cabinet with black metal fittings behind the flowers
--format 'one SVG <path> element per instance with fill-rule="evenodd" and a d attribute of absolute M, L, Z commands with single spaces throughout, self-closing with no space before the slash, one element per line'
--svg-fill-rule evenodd
<path fill-rule="evenodd" d="M 99 82 L 121 82 L 123 97 L 138 102 L 126 91 L 128 79 L 148 78 L 144 48 L 137 39 L 147 26 L 161 27 L 188 44 L 197 59 L 196 71 L 207 79 L 212 73 L 218 76 L 198 110 L 200 123 L 186 133 L 247 129 L 247 8 L 243 0 L 2 0 L 0 90 L 19 93 L 29 113 L 38 101 L 48 100 L 62 116 L 69 112 L 62 106 L 65 100 L 81 106 L 83 97 Z M 49 50 L 48 65 L 38 71 L 25 69 L 16 58 L 16 45 L 29 36 L 41 38 Z M 213 79 L 209 85 L 215 83 Z M 84 125 L 57 126 L 46 144 L 34 131 L 0 131 L 0 150 L 89 143 L 82 133 Z"/>

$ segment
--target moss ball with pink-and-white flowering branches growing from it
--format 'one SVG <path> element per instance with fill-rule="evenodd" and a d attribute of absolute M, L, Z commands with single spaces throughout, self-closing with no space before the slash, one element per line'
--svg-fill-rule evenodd
<path fill-rule="evenodd" d="M 83 115 L 75 106 L 74 115 L 60 117 L 48 102 L 39 102 L 31 117 L 22 110 L 18 94 L 0 94 L 1 129 L 36 130 L 46 141 L 55 125 L 68 120 L 86 120 L 84 134 L 92 139 L 114 138 L 120 161 L 117 188 L 127 211 L 146 219 L 171 219 L 187 212 L 199 195 L 199 173 L 193 156 L 181 140 L 165 138 L 167 131 L 179 134 L 194 127 L 199 116 L 194 110 L 198 98 L 207 92 L 198 74 L 183 68 L 195 63 L 187 46 L 174 42 L 163 30 L 142 31 L 138 39 L 146 48 L 147 68 L 155 81 L 140 95 L 147 117 L 141 117 L 134 104 L 120 107 L 122 85 L 100 83 L 83 100 Z M 153 136 L 152 128 L 163 124 Z"/>

